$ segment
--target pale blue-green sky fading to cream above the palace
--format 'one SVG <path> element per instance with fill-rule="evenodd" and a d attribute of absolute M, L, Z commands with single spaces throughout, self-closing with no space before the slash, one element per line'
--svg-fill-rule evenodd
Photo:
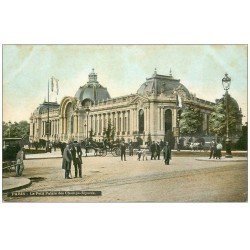
<path fill-rule="evenodd" d="M 197 97 L 215 101 L 229 90 L 247 121 L 246 45 L 3 45 L 3 121 L 27 120 L 47 98 L 48 79 L 59 80 L 60 103 L 74 96 L 95 69 L 111 97 L 136 93 L 155 68 L 176 79 Z"/>

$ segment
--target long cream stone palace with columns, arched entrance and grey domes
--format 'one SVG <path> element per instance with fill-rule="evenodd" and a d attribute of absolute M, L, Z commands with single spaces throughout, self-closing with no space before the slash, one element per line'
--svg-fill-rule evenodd
<path fill-rule="evenodd" d="M 60 104 L 44 102 L 37 107 L 30 117 L 31 141 L 47 139 L 48 105 L 51 141 L 81 141 L 90 134 L 101 141 L 110 121 L 115 127 L 115 139 L 124 138 L 128 142 L 139 136 L 145 142 L 149 134 L 152 140 L 160 140 L 167 131 L 174 131 L 178 112 L 186 105 L 200 108 L 204 118 L 202 130 L 208 132 L 214 103 L 191 94 L 171 71 L 159 75 L 156 70 L 137 93 L 111 98 L 93 70 L 74 97 L 66 96 Z"/>

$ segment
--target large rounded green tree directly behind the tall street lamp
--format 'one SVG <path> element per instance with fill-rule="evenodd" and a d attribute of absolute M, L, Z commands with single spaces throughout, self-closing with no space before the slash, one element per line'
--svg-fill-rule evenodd
<path fill-rule="evenodd" d="M 227 109 L 226 109 L 226 96 L 216 100 L 214 112 L 211 113 L 209 119 L 210 132 L 223 136 L 226 134 L 227 129 Z M 231 135 L 240 132 L 239 126 L 241 125 L 242 114 L 239 109 L 238 103 L 228 95 L 228 127 Z"/>

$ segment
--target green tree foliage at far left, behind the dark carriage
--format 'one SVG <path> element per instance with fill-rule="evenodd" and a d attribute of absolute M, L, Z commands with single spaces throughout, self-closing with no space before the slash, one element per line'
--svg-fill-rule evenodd
<path fill-rule="evenodd" d="M 3 137 L 5 138 L 22 138 L 29 136 L 29 123 L 27 121 L 20 121 L 19 123 L 3 122 Z"/>

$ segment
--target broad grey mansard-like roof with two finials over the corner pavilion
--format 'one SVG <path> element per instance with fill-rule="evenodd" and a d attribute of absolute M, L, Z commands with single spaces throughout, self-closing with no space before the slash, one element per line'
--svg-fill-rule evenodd
<path fill-rule="evenodd" d="M 173 92 L 177 89 L 180 89 L 189 96 L 188 89 L 180 83 L 180 80 L 174 79 L 171 71 L 170 74 L 167 75 L 159 75 L 156 70 L 152 77 L 147 78 L 146 82 L 141 85 L 141 87 L 137 90 L 137 94 L 147 95 L 148 93 L 163 93 L 166 96 L 172 95 Z"/>

